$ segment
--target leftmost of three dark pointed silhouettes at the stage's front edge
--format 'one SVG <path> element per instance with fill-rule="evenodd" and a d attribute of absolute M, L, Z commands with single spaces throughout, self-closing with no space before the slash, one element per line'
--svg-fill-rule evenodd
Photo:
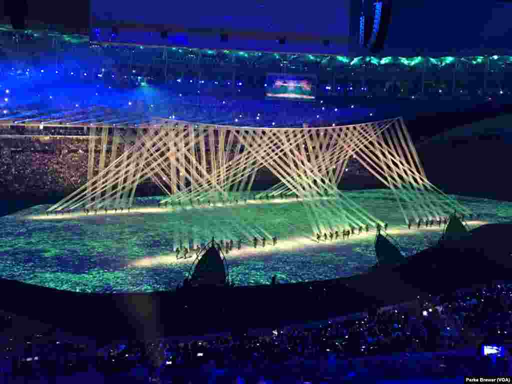
<path fill-rule="evenodd" d="M 193 264 L 194 272 L 189 273 L 188 284 L 194 286 L 223 286 L 227 284 L 227 263 L 222 251 L 211 241 L 198 253 Z"/>

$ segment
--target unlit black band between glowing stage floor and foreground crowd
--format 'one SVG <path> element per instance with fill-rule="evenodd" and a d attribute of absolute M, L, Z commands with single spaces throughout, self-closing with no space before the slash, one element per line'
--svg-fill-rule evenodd
<path fill-rule="evenodd" d="M 506 280 L 512 270 L 511 230 L 512 223 L 484 225 L 464 240 L 425 249 L 401 265 L 322 282 L 89 294 L 2 280 L 0 289 L 10 292 L 2 307 L 98 342 L 277 327 Z"/>

